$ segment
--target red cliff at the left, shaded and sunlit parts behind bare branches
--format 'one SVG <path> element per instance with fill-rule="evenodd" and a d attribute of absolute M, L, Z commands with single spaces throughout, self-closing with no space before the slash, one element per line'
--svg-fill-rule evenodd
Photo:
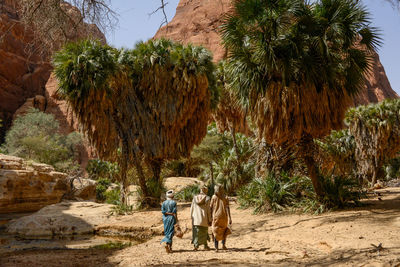
<path fill-rule="evenodd" d="M 37 52 L 38 49 L 31 47 L 32 31 L 20 22 L 15 5 L 13 0 L 0 2 L 0 119 L 5 126 L 0 128 L 0 142 L 12 120 L 31 107 L 54 114 L 62 133 L 77 130 L 77 121 L 68 112 L 66 103 L 55 94 L 57 80 L 50 76 L 52 66 Z M 82 19 L 77 8 L 68 3 L 64 3 L 63 7 L 74 20 Z M 96 25 L 81 24 L 74 39 L 86 36 L 106 43 L 105 36 Z M 79 159 L 81 165 L 86 166 L 88 157 L 93 153 L 86 144 Z"/>

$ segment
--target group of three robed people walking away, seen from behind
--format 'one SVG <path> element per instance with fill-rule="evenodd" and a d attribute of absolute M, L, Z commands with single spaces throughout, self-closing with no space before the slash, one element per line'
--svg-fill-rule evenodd
<path fill-rule="evenodd" d="M 208 188 L 203 186 L 200 194 L 193 198 L 190 207 L 192 217 L 192 244 L 194 250 L 198 250 L 200 245 L 204 245 L 205 250 L 209 250 L 208 227 L 211 226 L 215 249 L 218 251 L 219 241 L 222 241 L 222 249 L 227 249 L 226 237 L 231 233 L 229 225 L 232 224 L 229 200 L 225 196 L 224 190 L 220 185 L 214 187 L 214 195 L 211 200 L 207 196 Z M 178 222 L 177 206 L 172 190 L 167 192 L 167 200 L 162 203 L 161 212 L 164 223 L 165 249 L 168 253 L 172 252 L 172 238 L 174 236 L 174 226 Z"/>

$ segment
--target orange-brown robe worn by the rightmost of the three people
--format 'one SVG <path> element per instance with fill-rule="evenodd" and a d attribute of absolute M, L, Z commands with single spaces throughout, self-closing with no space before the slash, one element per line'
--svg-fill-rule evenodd
<path fill-rule="evenodd" d="M 218 241 L 225 240 L 228 228 L 229 200 L 225 196 L 213 195 L 210 202 L 212 212 L 212 232 Z"/>

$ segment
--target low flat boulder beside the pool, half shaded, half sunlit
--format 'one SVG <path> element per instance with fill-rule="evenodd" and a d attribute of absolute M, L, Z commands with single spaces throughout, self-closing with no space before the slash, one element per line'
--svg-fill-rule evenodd
<path fill-rule="evenodd" d="M 112 205 L 95 202 L 62 202 L 9 223 L 6 231 L 21 237 L 54 237 L 93 234 L 109 221 Z"/>

